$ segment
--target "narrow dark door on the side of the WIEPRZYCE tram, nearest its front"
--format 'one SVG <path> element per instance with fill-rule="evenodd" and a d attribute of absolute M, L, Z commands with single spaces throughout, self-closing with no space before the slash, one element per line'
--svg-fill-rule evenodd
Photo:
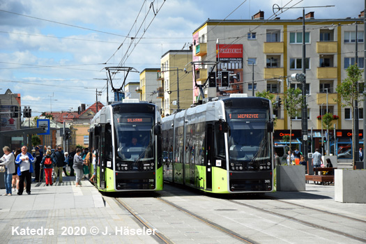
<path fill-rule="evenodd" d="M 212 190 L 213 124 L 206 124 L 206 190 Z"/>

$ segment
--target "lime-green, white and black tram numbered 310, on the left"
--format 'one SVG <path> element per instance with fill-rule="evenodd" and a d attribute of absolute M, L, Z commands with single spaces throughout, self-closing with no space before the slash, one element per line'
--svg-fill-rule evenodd
<path fill-rule="evenodd" d="M 96 151 L 96 187 L 103 192 L 162 190 L 159 109 L 129 101 L 102 107 L 91 121 L 89 148 Z"/>

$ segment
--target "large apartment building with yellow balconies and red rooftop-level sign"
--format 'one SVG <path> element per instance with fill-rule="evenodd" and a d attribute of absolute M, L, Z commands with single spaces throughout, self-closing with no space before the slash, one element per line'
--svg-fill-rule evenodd
<path fill-rule="evenodd" d="M 358 32 L 356 34 L 356 25 Z M 335 88 L 346 78 L 346 68 L 355 63 L 356 38 L 358 66 L 364 68 L 363 12 L 358 17 L 324 20 L 315 19 L 314 12 L 305 15 L 305 67 L 308 128 L 310 137 L 321 137 L 319 115 L 328 112 L 339 116 L 333 123 L 337 129 L 334 142 L 350 143 L 351 112 L 337 102 Z M 198 73 L 218 74 L 216 86 L 208 86 L 205 96 L 228 96 L 229 93 L 270 91 L 283 97 L 289 87 L 300 84 L 288 82 L 293 73 L 302 73 L 303 17 L 296 20 L 266 20 L 259 11 L 252 20 L 207 20 L 193 32 L 193 61 L 203 65 Z M 220 61 L 218 66 L 206 65 Z M 222 83 L 222 72 L 229 73 L 229 84 Z M 207 76 L 206 76 L 207 77 Z M 201 79 L 203 82 L 206 79 Z M 215 82 L 213 82 L 214 84 Z M 194 94 L 195 96 L 195 94 Z M 327 99 L 328 98 L 328 99 Z M 197 96 L 194 98 L 197 99 Z M 359 127 L 363 128 L 363 105 L 360 106 Z M 275 111 L 277 125 L 275 139 L 289 133 L 290 118 L 284 106 Z M 320 117 L 319 117 L 320 118 Z M 301 118 L 292 119 L 293 137 L 300 143 Z M 362 134 L 362 132 L 360 131 Z M 324 134 L 323 134 L 324 135 Z M 360 136 L 360 144 L 363 143 Z M 333 142 L 333 143 L 334 143 Z M 319 139 L 314 139 L 319 146 Z M 334 150 L 334 149 L 333 149 Z"/>

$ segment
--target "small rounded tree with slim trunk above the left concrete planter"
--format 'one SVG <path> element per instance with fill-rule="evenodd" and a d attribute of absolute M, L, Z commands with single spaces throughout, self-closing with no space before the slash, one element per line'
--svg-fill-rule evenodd
<path fill-rule="evenodd" d="M 301 104 L 303 97 L 301 96 L 301 90 L 296 88 L 287 89 L 284 93 L 284 109 L 287 111 L 287 115 L 290 117 L 290 150 L 291 150 L 291 134 L 292 134 L 292 118 L 299 116 L 301 112 Z"/>

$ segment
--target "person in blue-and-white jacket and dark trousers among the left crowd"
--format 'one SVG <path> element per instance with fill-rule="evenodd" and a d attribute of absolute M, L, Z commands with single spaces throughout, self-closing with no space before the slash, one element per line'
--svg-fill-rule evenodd
<path fill-rule="evenodd" d="M 32 183 L 32 173 L 33 166 L 32 163 L 35 161 L 31 153 L 28 152 L 27 146 L 22 146 L 22 153 L 17 155 L 15 163 L 19 165 L 17 174 L 20 176 L 19 191 L 18 195 L 23 195 L 24 190 L 24 179 L 26 180 L 26 193 L 31 194 L 31 183 Z"/>

